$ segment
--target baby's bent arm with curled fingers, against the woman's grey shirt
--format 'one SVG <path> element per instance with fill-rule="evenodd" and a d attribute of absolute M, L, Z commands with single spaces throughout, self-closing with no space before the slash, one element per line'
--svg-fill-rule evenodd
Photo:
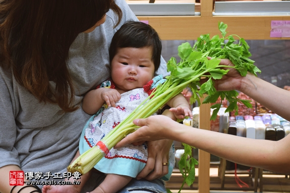
<path fill-rule="evenodd" d="M 115 102 L 121 99 L 120 93 L 115 89 L 98 88 L 89 91 L 83 100 L 83 110 L 88 114 L 95 114 L 104 104 L 115 107 Z"/>

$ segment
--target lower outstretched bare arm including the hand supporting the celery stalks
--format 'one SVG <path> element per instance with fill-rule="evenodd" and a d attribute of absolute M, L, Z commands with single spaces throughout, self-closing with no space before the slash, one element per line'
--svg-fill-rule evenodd
<path fill-rule="evenodd" d="M 142 126 L 116 147 L 137 141 L 170 139 L 186 143 L 226 160 L 271 171 L 290 172 L 290 136 L 280 141 L 255 140 L 179 124 L 162 115 L 134 120 Z"/>

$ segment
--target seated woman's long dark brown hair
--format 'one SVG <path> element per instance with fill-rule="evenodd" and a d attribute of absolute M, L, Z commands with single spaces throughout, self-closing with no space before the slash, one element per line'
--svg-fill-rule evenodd
<path fill-rule="evenodd" d="M 76 110 L 69 49 L 109 9 L 119 17 L 117 26 L 122 11 L 114 0 L 0 1 L 0 66 L 12 68 L 17 82 L 40 102 Z"/>

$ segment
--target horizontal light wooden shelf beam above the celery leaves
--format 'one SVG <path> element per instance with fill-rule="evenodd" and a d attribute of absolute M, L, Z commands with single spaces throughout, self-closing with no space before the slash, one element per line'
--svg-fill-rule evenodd
<path fill-rule="evenodd" d="M 149 1 L 127 0 L 127 2 L 148 3 Z M 156 0 L 155 3 L 183 3 L 194 0 Z M 248 40 L 290 39 L 270 37 L 271 21 L 290 20 L 289 15 L 277 16 L 213 16 L 213 1 L 202 0 L 196 3 L 195 12 L 200 16 L 137 16 L 139 20 L 148 21 L 156 29 L 162 40 L 196 40 L 201 34 L 209 33 L 211 36 L 220 34 L 218 22 L 228 25 L 228 34 L 237 34 Z"/>

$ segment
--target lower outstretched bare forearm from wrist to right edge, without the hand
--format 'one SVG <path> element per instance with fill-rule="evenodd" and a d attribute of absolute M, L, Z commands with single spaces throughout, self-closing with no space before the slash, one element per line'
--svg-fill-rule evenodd
<path fill-rule="evenodd" d="M 290 172 L 290 158 L 286 156 L 287 151 L 283 148 L 289 147 L 289 144 L 282 144 L 287 143 L 289 139 L 274 142 L 201 130 L 182 124 L 172 127 L 175 130 L 165 134 L 171 140 L 189 144 L 235 163 L 277 172 Z"/>

